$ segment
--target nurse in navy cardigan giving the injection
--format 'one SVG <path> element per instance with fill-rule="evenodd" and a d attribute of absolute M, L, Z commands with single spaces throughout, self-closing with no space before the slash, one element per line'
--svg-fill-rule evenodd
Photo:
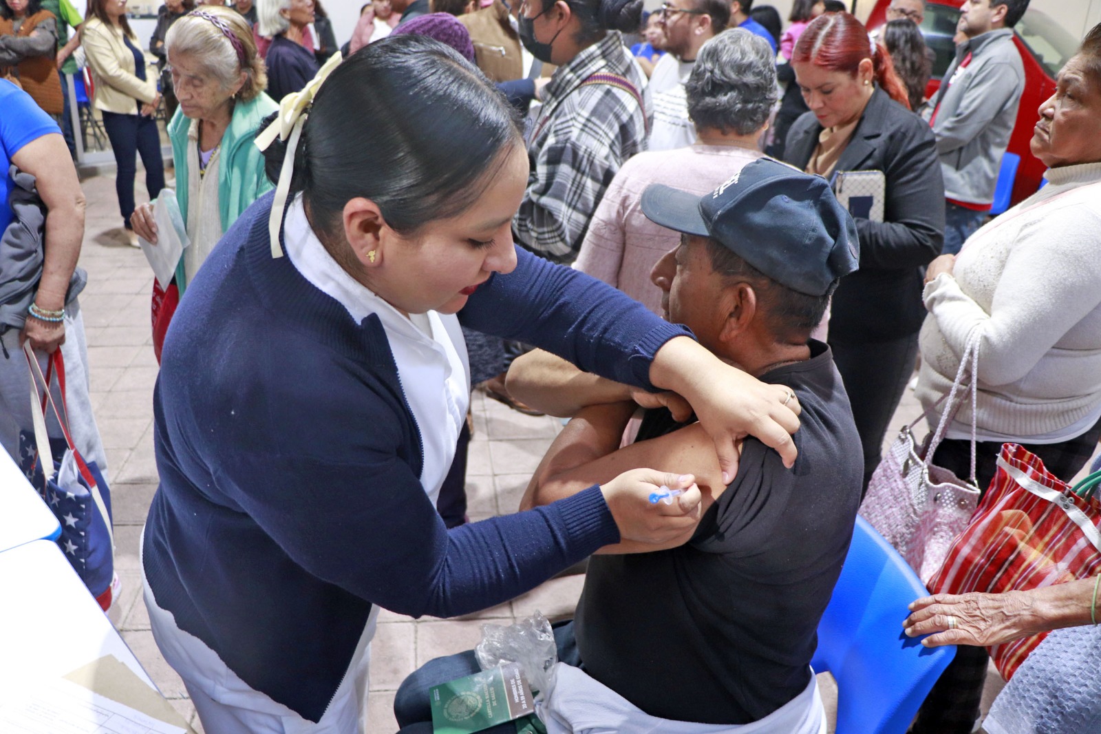
<path fill-rule="evenodd" d="M 504 97 L 472 65 L 402 35 L 319 76 L 330 66 L 303 93 L 308 120 L 287 115 L 258 138 L 280 134 L 279 186 L 187 290 L 154 395 L 145 603 L 219 734 L 361 731 L 380 607 L 466 614 L 621 539 L 690 537 L 691 477 L 651 469 L 448 530 L 435 494 L 469 397 L 457 312 L 586 370 L 678 392 L 728 473 L 748 433 L 794 461 L 786 388 L 513 246 L 527 156 Z M 685 488 L 683 501 L 651 505 L 663 483 Z"/>

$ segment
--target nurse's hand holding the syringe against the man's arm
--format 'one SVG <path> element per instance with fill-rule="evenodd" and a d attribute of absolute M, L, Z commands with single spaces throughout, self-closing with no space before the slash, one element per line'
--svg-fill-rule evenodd
<path fill-rule="evenodd" d="M 673 504 L 650 501 L 654 493 L 680 489 Z M 662 546 L 691 537 L 700 518 L 700 495 L 691 474 L 666 474 L 640 468 L 623 472 L 600 486 L 604 501 L 620 529 L 620 540 Z M 656 550 L 656 549 L 655 549 Z"/>

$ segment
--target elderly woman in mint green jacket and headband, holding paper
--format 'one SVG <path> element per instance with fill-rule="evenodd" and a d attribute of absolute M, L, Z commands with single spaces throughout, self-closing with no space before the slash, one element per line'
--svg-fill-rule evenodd
<path fill-rule="evenodd" d="M 183 296 L 222 234 L 272 188 L 253 141 L 261 121 L 277 106 L 263 93 L 266 75 L 252 32 L 232 10 L 204 6 L 184 15 L 168 30 L 164 45 L 179 100 L 168 123 L 176 201 L 190 240 L 174 281 Z M 156 242 L 152 204 L 138 207 L 131 224 Z M 154 311 L 157 305 L 154 293 Z M 157 321 L 154 313 L 154 342 L 167 326 L 165 321 L 157 334 Z"/>

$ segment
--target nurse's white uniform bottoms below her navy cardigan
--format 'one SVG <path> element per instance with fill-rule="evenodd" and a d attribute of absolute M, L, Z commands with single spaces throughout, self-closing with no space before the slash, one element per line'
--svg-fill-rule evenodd
<path fill-rule="evenodd" d="M 141 544 L 144 546 L 144 530 Z M 164 659 L 179 674 L 210 734 L 360 734 L 367 725 L 367 688 L 379 607 L 371 609 L 359 645 L 329 708 L 317 723 L 254 690 L 230 670 L 218 654 L 176 626 L 171 612 L 161 608 L 141 564 L 145 606 L 153 639 Z"/>

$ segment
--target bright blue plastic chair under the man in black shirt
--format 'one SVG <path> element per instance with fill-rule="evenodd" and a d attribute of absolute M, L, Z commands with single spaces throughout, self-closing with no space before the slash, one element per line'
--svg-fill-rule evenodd
<path fill-rule="evenodd" d="M 906 561 L 857 518 L 810 667 L 837 680 L 837 734 L 904 734 L 956 648 L 906 637 L 906 606 L 926 596 Z"/>

